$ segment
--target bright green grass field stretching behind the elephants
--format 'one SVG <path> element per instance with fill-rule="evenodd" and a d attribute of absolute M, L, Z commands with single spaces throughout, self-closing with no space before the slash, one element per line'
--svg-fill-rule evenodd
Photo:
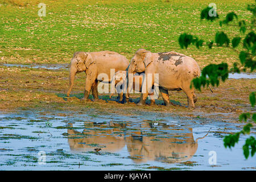
<path fill-rule="evenodd" d="M 192 56 L 200 67 L 238 60 L 227 48 L 181 49 L 180 34 L 208 41 L 222 28 L 218 22 L 200 20 L 200 12 L 212 1 L 44 1 L 46 16 L 39 18 L 37 0 L 10 3 L 0 0 L 0 63 L 69 63 L 76 51 L 119 52 L 131 59 L 139 48 L 152 52 L 177 51 Z M 246 4 L 253 0 L 216 0 L 224 19 L 234 11 L 248 20 Z M 234 27 L 223 27 L 232 38 Z M 28 71 L 28 70 L 24 70 Z"/>

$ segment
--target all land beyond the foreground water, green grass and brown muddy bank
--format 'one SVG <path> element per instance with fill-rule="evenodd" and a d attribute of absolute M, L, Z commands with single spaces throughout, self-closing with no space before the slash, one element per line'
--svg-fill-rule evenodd
<path fill-rule="evenodd" d="M 183 32 L 212 40 L 222 28 L 230 37 L 241 34 L 234 27 L 200 20 L 200 12 L 212 1 L 43 1 L 46 16 L 38 16 L 41 1 L 0 0 L 0 63 L 69 63 L 76 51 L 110 50 L 131 59 L 139 48 L 152 52 L 177 51 L 192 56 L 201 69 L 209 63 L 239 60 L 232 49 L 191 46 L 181 49 L 177 41 Z M 214 1 L 220 19 L 230 11 L 248 21 L 246 4 L 254 1 Z M 0 64 L 0 110 L 74 110 L 98 113 L 135 114 L 144 111 L 168 112 L 181 116 L 208 117 L 237 121 L 250 110 L 249 93 L 255 79 L 230 79 L 218 88 L 196 92 L 195 110 L 180 106 L 122 105 L 102 95 L 98 102 L 84 103 L 85 75 L 77 75 L 71 98 L 66 97 L 68 70 L 7 68 Z M 183 92 L 170 92 L 172 102 L 187 104 Z M 116 96 L 116 95 L 115 95 Z M 91 98 L 92 96 L 90 96 Z M 139 94 L 132 98 L 138 100 Z M 159 98 L 158 104 L 163 103 Z M 106 106 L 108 105 L 108 106 Z M 203 113 L 203 114 L 202 114 Z M 223 114 L 224 113 L 224 114 Z M 221 114 L 221 117 L 219 116 Z"/>

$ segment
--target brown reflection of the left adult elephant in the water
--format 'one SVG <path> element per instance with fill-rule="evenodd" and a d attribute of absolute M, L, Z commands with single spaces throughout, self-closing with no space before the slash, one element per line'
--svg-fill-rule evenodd
<path fill-rule="evenodd" d="M 69 125 L 73 127 L 71 123 Z M 97 129 L 97 127 L 100 129 Z M 112 127 L 112 129 L 109 129 L 109 127 Z M 104 128 L 106 129 L 104 130 Z M 121 134 L 120 129 L 122 129 L 122 125 L 116 123 L 106 125 L 104 123 L 86 122 L 82 133 L 68 129 L 68 144 L 72 151 L 77 152 L 93 151 L 96 147 L 102 147 L 104 151 L 116 152 L 125 146 L 124 135 Z"/>

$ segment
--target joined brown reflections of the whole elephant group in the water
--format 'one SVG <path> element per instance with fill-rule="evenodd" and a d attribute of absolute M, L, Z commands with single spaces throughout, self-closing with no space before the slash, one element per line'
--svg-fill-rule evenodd
<path fill-rule="evenodd" d="M 122 133 L 124 128 L 126 128 L 125 134 Z M 129 130 L 131 128 L 133 130 Z M 174 130 L 175 134 L 166 133 L 166 130 Z M 104 147 L 102 150 L 109 152 L 122 150 L 126 144 L 135 163 L 147 162 L 147 160 L 179 163 L 189 160 L 196 153 L 198 145 L 197 139 L 193 139 L 192 128 L 188 128 L 185 132 L 179 129 L 181 132 L 178 134 L 177 130 L 175 126 L 164 123 L 154 128 L 154 123 L 143 122 L 139 129 L 134 129 L 129 122 L 126 125 L 102 123 L 97 126 L 92 122 L 86 123 L 82 133 L 68 130 L 68 143 L 73 151 L 93 151 L 96 147 L 93 144 L 97 144 L 97 147 Z M 156 135 L 152 136 L 154 131 Z M 147 136 L 148 133 L 150 136 Z"/>

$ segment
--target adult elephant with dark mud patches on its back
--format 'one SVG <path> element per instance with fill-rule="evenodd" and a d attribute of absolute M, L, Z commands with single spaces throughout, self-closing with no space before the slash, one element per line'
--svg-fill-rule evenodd
<path fill-rule="evenodd" d="M 147 82 L 147 89 L 142 93 L 138 105 L 144 105 L 148 96 L 148 90 L 154 84 L 154 74 L 158 73 L 159 91 L 162 94 L 165 105 L 170 105 L 168 90 L 183 90 L 187 94 L 188 107 L 195 107 L 196 95 L 191 88 L 191 81 L 200 76 L 200 68 L 194 59 L 177 52 L 152 53 L 146 49 L 138 49 L 128 69 L 129 73 L 144 72 L 147 79 L 151 77 L 151 84 Z M 148 73 L 151 73 L 148 74 Z M 129 87 L 131 86 L 129 74 Z"/>

